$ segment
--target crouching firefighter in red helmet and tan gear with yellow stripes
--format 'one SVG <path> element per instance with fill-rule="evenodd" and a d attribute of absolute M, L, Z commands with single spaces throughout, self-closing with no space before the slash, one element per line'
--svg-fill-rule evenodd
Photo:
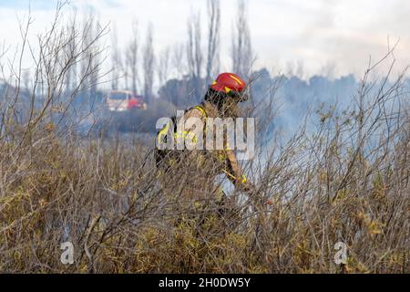
<path fill-rule="evenodd" d="M 204 142 L 202 150 L 157 150 L 157 165 L 159 169 L 167 172 L 161 184 L 168 187 L 169 192 L 182 193 L 180 199 L 187 200 L 196 207 L 225 201 L 227 198 L 220 185 L 214 183 L 216 176 L 221 173 L 226 174 L 237 189 L 247 193 L 251 192 L 252 185 L 242 172 L 234 149 L 227 143 L 226 132 L 224 131 L 223 135 L 223 149 L 207 150 L 208 138 L 205 138 L 207 120 L 210 118 L 232 118 L 234 120 L 239 115 L 239 103 L 247 99 L 246 83 L 234 73 L 222 73 L 210 84 L 200 105 L 186 110 L 178 121 L 174 119 L 173 128 L 167 125 L 164 129 L 159 130 L 158 141 L 163 138 L 169 139 L 169 128 L 172 128 L 170 131 L 173 131 L 176 143 L 181 140 L 195 142 L 200 139 Z M 200 132 L 203 133 L 203 137 L 196 137 L 195 125 L 184 126 L 190 118 L 201 120 L 202 130 Z"/>

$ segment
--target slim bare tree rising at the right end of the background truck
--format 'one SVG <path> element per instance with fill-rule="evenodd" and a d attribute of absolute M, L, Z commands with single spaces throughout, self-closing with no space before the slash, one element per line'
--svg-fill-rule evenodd
<path fill-rule="evenodd" d="M 144 56 L 143 56 L 143 70 L 144 70 L 144 95 L 149 102 L 153 96 L 153 83 L 154 83 L 154 47 L 153 47 L 153 28 L 152 24 L 149 24 L 147 30 L 147 39 L 144 47 Z"/>

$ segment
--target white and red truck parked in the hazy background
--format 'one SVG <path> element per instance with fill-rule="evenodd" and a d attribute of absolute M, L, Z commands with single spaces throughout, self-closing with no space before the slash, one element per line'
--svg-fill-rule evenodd
<path fill-rule="evenodd" d="M 141 96 L 128 90 L 112 90 L 108 92 L 107 107 L 110 111 L 147 110 L 147 104 Z"/>

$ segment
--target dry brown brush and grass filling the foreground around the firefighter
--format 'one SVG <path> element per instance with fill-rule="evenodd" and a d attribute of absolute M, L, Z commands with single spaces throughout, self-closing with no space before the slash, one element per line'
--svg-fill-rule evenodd
<path fill-rule="evenodd" d="M 55 68 L 46 80 L 56 80 Z M 256 199 L 231 193 L 222 216 L 212 202 L 199 212 L 184 199 L 204 192 L 187 191 L 187 182 L 210 185 L 200 172 L 180 165 L 165 191 L 141 141 L 60 132 L 46 113 L 61 91 L 49 83 L 49 102 L 26 123 L 2 108 L 0 271 L 408 273 L 409 111 L 390 107 L 408 106 L 402 82 L 372 94 L 366 74 L 352 109 L 322 110 L 313 132 L 272 142 L 268 152 L 260 145 L 266 158 L 248 165 Z M 262 203 L 268 198 L 272 206 Z M 65 241 L 75 247 L 73 265 L 60 262 Z M 344 266 L 333 262 L 337 242 L 348 246 Z"/>

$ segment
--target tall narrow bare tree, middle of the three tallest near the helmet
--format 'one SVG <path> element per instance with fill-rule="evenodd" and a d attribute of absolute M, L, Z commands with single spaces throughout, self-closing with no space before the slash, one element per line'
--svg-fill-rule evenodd
<path fill-rule="evenodd" d="M 219 71 L 220 46 L 220 0 L 208 0 L 208 51 L 206 65 L 206 84 L 212 75 Z"/>

